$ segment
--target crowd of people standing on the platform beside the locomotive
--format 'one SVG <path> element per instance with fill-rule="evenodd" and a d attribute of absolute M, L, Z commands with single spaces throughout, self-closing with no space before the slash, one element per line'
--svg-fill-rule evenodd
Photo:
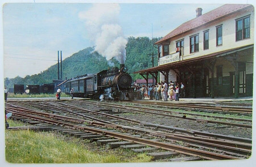
<path fill-rule="evenodd" d="M 171 82 L 170 84 L 167 84 L 166 81 L 164 82 L 158 82 L 155 86 L 148 86 L 142 85 L 142 87 L 136 86 L 134 88 L 134 91 L 137 92 L 137 99 L 145 99 L 149 98 L 149 100 L 162 100 L 162 101 L 168 101 L 169 100 L 175 100 L 179 101 L 180 93 L 183 93 L 184 91 L 184 85 L 181 82 Z"/>

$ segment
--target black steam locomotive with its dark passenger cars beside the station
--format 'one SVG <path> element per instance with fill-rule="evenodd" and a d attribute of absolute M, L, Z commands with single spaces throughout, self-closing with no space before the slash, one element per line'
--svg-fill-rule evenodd
<path fill-rule="evenodd" d="M 73 88 L 73 97 L 92 99 L 134 100 L 132 77 L 124 65 L 95 74 L 85 74 L 65 82 L 65 92 Z"/>

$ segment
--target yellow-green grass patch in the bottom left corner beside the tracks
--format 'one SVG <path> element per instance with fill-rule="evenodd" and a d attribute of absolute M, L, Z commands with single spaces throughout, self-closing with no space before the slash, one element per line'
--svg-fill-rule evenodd
<path fill-rule="evenodd" d="M 10 126 L 24 126 L 8 121 Z M 5 131 L 5 155 L 9 163 L 121 163 L 150 162 L 146 154 L 98 147 L 86 140 L 56 132 Z M 93 148 L 92 148 L 93 146 Z M 96 148 L 96 149 L 95 149 Z M 97 150 L 97 151 L 92 151 Z"/>

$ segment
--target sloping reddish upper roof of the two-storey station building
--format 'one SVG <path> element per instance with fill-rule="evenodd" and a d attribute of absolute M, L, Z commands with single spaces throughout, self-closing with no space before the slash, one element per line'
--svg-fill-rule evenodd
<path fill-rule="evenodd" d="M 171 31 L 171 33 L 168 33 L 166 36 L 161 38 L 159 41 L 157 41 L 155 44 L 160 45 L 164 41 L 168 41 L 170 38 L 177 36 L 182 33 L 186 33 L 188 31 L 191 31 L 195 28 L 198 28 L 200 26 L 203 26 L 207 23 L 216 21 L 218 19 L 221 19 L 227 15 L 230 15 L 232 13 L 235 13 L 237 11 L 243 10 L 247 7 L 253 7 L 250 4 L 225 4 L 220 6 L 219 8 L 209 11 L 201 16 L 196 17 L 195 19 L 192 19 L 188 22 L 184 22 L 179 27 Z"/>

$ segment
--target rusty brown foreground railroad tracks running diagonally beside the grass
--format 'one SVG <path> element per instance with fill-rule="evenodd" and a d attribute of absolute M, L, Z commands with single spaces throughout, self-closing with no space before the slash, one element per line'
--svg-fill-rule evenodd
<path fill-rule="evenodd" d="M 33 103 L 35 102 L 28 104 L 32 106 Z M 118 140 L 131 142 L 131 145 L 147 145 L 187 157 L 197 157 L 197 159 L 244 159 L 251 154 L 250 139 L 139 122 L 119 117 L 115 113 L 92 111 L 61 102 L 44 101 L 35 103 L 33 107 L 35 106 L 44 110 L 36 111 L 9 103 L 6 103 L 5 109 L 12 112 L 16 117 L 31 119 L 34 123 L 45 122 L 69 128 L 70 131 L 92 133 L 94 136 L 114 137 Z M 48 110 L 52 113 L 47 113 Z M 184 142 L 183 145 L 185 146 L 177 145 L 181 141 Z"/>

